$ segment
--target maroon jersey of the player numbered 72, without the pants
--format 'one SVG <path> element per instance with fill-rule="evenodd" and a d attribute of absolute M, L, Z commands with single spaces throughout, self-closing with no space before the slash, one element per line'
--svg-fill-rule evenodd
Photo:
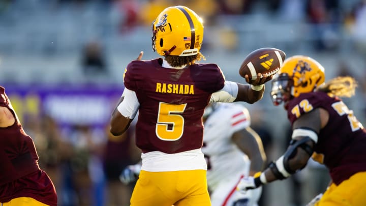
<path fill-rule="evenodd" d="M 324 92 L 301 94 L 291 100 L 288 119 L 293 124 L 301 114 L 319 107 L 329 112 L 329 121 L 320 130 L 313 159 L 325 164 L 332 181 L 339 185 L 354 173 L 366 171 L 366 131 L 342 100 Z"/>

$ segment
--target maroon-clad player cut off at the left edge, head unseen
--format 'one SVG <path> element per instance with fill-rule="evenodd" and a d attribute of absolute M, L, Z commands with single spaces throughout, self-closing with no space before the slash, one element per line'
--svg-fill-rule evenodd
<path fill-rule="evenodd" d="M 55 187 L 38 165 L 31 137 L 0 86 L 0 205 L 57 205 Z"/>

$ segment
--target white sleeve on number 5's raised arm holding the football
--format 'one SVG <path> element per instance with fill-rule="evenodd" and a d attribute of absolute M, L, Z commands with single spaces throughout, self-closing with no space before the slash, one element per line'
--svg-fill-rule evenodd
<path fill-rule="evenodd" d="M 225 81 L 223 89 L 212 93 L 210 102 L 233 102 L 238 93 L 236 82 Z"/>

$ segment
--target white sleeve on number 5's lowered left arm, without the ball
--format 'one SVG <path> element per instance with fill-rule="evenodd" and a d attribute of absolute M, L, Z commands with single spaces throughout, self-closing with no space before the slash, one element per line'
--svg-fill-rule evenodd
<path fill-rule="evenodd" d="M 117 110 L 123 116 L 134 119 L 138 108 L 140 107 L 136 93 L 125 87 L 122 97 L 125 97 L 125 99 L 117 106 Z"/>

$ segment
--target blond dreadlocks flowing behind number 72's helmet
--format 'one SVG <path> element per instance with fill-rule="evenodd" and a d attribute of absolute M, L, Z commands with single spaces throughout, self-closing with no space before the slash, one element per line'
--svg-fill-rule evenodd
<path fill-rule="evenodd" d="M 318 91 L 326 92 L 332 96 L 352 97 L 355 94 L 357 82 L 350 76 L 335 77 L 318 87 Z"/>

